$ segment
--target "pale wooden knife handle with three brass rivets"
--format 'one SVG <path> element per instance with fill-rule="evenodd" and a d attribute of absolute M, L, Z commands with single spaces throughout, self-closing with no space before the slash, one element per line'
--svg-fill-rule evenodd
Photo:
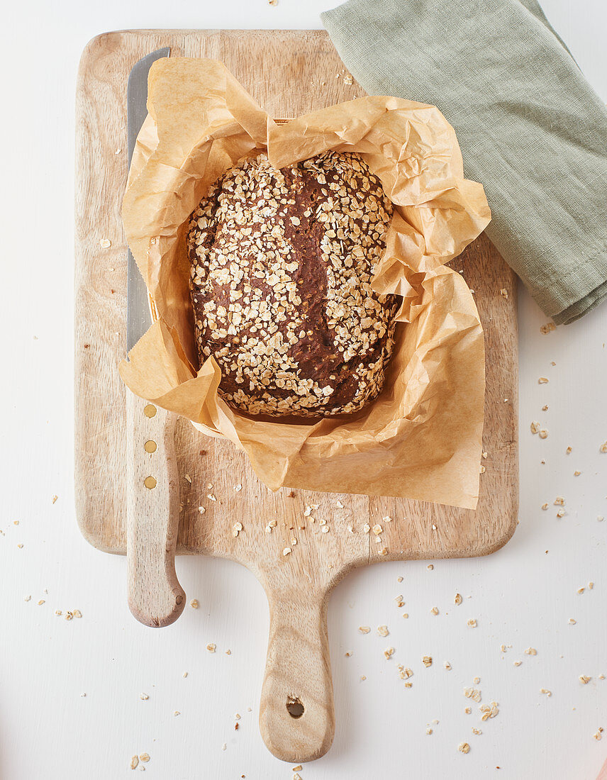
<path fill-rule="evenodd" d="M 179 531 L 176 414 L 127 392 L 126 566 L 129 608 L 146 626 L 169 626 L 186 594 L 175 572 Z"/>

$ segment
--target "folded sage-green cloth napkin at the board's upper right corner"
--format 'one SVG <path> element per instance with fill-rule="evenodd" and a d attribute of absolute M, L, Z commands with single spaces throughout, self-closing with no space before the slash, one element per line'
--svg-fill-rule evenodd
<path fill-rule="evenodd" d="M 321 19 L 368 93 L 451 122 L 488 236 L 545 314 L 607 297 L 607 109 L 535 0 L 350 0 Z"/>

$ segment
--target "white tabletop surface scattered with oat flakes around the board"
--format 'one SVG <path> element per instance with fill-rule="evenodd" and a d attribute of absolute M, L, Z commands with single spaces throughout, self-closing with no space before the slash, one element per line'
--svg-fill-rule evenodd
<path fill-rule="evenodd" d="M 0 778 L 130 777 L 146 751 L 162 780 L 290 778 L 265 749 L 257 707 L 268 633 L 261 587 L 229 562 L 180 558 L 189 598 L 174 626 L 126 608 L 125 560 L 80 537 L 73 508 L 74 90 L 80 52 L 133 27 L 321 27 L 321 0 L 12 2 L 5 7 L 0 158 Z M 602 0 L 545 11 L 607 101 Z M 8 24 L 6 18 L 8 16 Z M 488 558 L 386 563 L 335 590 L 329 633 L 337 729 L 303 780 L 594 780 L 607 757 L 607 305 L 540 334 L 520 293 L 520 526 Z M 556 363 L 551 365 L 551 361 Z M 550 379 L 538 385 L 538 377 Z M 548 411 L 541 406 L 548 404 Z M 531 420 L 548 428 L 532 436 Z M 567 445 L 573 452 L 567 456 Z M 541 464 L 545 459 L 545 465 Z M 574 470 L 580 470 L 574 477 Z M 51 496 L 58 495 L 51 503 Z M 566 515 L 556 518 L 556 495 Z M 548 502 L 548 511 L 541 504 Z M 14 521 L 19 521 L 15 525 Z M 17 545 L 23 544 L 23 548 Z M 399 584 L 397 576 L 403 576 Z M 595 582 L 594 590 L 577 588 Z M 47 593 L 48 590 L 48 593 Z M 464 604 L 453 607 L 460 592 Z M 403 594 L 410 619 L 393 601 Z M 31 595 L 30 601 L 24 598 Z M 44 605 L 37 601 L 44 599 Z M 430 614 L 437 605 L 438 617 Z M 81 619 L 55 616 L 77 608 Z M 449 612 L 449 615 L 445 613 Z M 475 618 L 477 629 L 467 629 Z M 569 619 L 577 624 L 572 626 Z M 386 623 L 389 640 L 357 626 Z M 218 652 L 204 648 L 215 642 Z M 385 661 L 386 644 L 396 647 Z M 500 645 L 512 645 L 506 653 Z M 524 649 L 537 648 L 537 656 Z M 232 651 L 225 654 L 225 649 Z M 351 658 L 345 657 L 352 651 Z M 435 664 L 421 665 L 430 654 Z M 453 666 L 445 671 L 442 662 Z M 519 667 L 514 661 L 522 660 Z M 403 687 L 396 663 L 414 668 Z M 186 679 L 183 672 L 188 672 Z M 364 682 L 361 675 L 366 676 Z M 579 675 L 590 675 L 581 685 Z M 463 687 L 481 678 L 499 715 L 481 724 Z M 552 691 L 552 697 L 540 693 Z M 86 693 L 86 697 L 83 697 Z M 148 700 L 141 700 L 147 693 Z M 472 704 L 473 714 L 464 714 Z M 248 711 L 248 707 L 251 711 Z M 174 716 L 174 711 L 180 711 Z M 234 731 L 239 712 L 240 729 Z M 434 733 L 426 735 L 427 725 Z M 474 736 L 472 727 L 482 729 Z M 599 726 L 605 738 L 593 739 Z M 460 742 L 470 743 L 467 755 Z M 226 750 L 222 744 L 226 743 Z M 495 769 L 499 766 L 500 769 Z M 137 770 L 138 771 L 138 770 Z"/>

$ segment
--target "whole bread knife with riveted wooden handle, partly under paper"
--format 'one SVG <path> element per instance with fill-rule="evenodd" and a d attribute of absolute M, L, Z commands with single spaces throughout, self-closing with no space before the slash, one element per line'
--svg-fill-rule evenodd
<path fill-rule="evenodd" d="M 147 116 L 147 75 L 152 62 L 168 57 L 158 49 L 136 62 L 126 87 L 129 166 Z M 127 255 L 126 349 L 152 324 L 151 303 L 139 268 Z M 186 594 L 175 572 L 179 531 L 179 473 L 175 452 L 176 414 L 127 391 L 126 395 L 126 569 L 129 608 L 146 626 L 169 626 L 183 612 Z"/>

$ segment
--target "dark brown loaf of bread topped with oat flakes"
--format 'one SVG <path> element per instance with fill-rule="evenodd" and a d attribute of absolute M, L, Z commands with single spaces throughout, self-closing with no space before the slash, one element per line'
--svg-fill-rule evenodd
<path fill-rule="evenodd" d="M 219 395 L 272 417 L 353 413 L 382 390 L 396 296 L 371 289 L 392 204 L 357 154 L 218 179 L 190 218 L 196 341 Z"/>

